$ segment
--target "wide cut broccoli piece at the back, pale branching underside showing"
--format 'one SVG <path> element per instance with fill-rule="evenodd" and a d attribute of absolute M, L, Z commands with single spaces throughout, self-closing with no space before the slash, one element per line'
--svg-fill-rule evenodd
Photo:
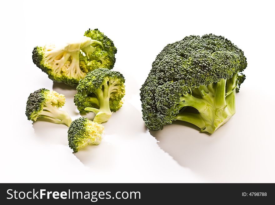
<path fill-rule="evenodd" d="M 98 29 L 89 29 L 80 41 L 62 48 L 36 46 L 32 60 L 53 81 L 76 87 L 86 73 L 101 67 L 112 69 L 116 52 L 111 39 Z"/>

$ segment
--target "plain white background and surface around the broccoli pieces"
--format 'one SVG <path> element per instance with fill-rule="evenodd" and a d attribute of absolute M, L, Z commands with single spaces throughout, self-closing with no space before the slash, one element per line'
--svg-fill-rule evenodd
<path fill-rule="evenodd" d="M 0 182 L 275 182 L 274 5 L 272 1 L 18 1 L 1 6 Z M 32 49 L 79 39 L 98 28 L 118 48 L 126 79 L 123 107 L 98 146 L 73 154 L 67 127 L 25 116 L 39 88 L 66 96 L 32 63 Z M 222 35 L 247 57 L 237 113 L 211 136 L 175 122 L 149 132 L 139 88 L 157 54 L 188 35 Z M 92 116 L 92 115 L 91 115 Z"/>

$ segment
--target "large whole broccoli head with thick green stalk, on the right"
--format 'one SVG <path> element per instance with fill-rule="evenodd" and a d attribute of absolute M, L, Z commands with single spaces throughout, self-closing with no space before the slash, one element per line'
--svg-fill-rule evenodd
<path fill-rule="evenodd" d="M 158 130 L 182 120 L 212 134 L 235 114 L 246 67 L 243 51 L 222 36 L 192 35 L 168 44 L 140 89 L 145 125 Z"/>

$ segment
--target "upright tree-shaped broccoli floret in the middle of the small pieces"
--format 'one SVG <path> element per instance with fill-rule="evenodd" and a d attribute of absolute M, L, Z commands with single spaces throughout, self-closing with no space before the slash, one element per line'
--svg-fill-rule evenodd
<path fill-rule="evenodd" d="M 100 124 L 108 121 L 112 112 L 116 112 L 123 104 L 124 82 L 123 75 L 118 71 L 96 69 L 79 81 L 74 103 L 80 113 L 94 112 L 94 122 Z"/>

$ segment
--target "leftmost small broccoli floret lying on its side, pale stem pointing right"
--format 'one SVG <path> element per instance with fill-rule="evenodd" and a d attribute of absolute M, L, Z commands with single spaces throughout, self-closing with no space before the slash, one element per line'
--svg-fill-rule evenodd
<path fill-rule="evenodd" d="M 68 112 L 59 110 L 65 104 L 65 96 L 45 88 L 31 93 L 27 100 L 26 116 L 28 120 L 35 122 L 45 118 L 54 123 L 70 126 L 72 119 Z"/>

